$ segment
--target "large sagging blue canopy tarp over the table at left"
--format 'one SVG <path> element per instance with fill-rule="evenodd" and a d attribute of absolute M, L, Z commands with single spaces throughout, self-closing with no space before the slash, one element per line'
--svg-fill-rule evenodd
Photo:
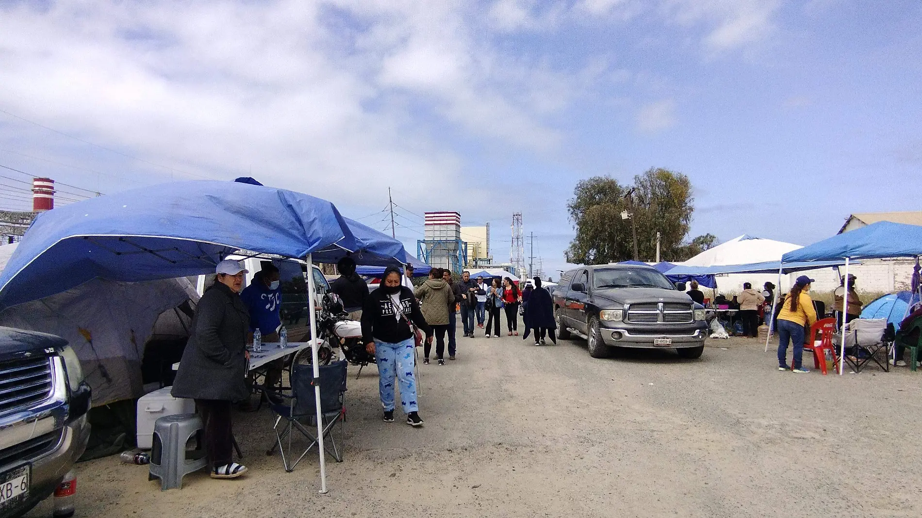
<path fill-rule="evenodd" d="M 384 236 L 362 227 L 320 198 L 240 182 L 171 182 L 91 198 L 36 218 L 0 275 L 0 308 L 95 277 L 141 281 L 205 274 L 238 250 L 299 258 L 313 253 L 318 262 L 355 251 L 361 255 L 357 262 L 396 263 L 361 250 Z M 393 252 L 393 243 L 387 244 L 385 253 Z"/>

